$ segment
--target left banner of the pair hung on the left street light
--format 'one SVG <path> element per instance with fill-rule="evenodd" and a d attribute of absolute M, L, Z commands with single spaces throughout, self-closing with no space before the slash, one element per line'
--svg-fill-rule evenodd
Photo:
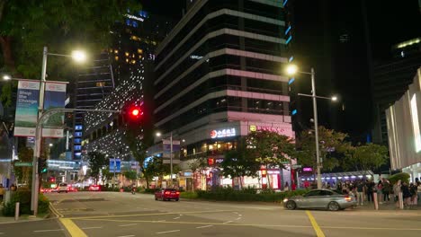
<path fill-rule="evenodd" d="M 40 81 L 19 81 L 14 117 L 14 136 L 35 136 L 39 100 Z"/>

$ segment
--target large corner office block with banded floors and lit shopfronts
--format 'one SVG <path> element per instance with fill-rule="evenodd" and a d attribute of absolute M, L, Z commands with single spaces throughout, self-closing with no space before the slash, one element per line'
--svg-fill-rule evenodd
<path fill-rule="evenodd" d="M 289 78 L 282 74 L 290 58 L 284 15 L 282 1 L 193 1 L 158 46 L 155 126 L 182 141 L 184 171 L 194 159 L 208 159 L 208 176 L 195 176 L 206 184 L 197 188 L 236 183 L 215 166 L 240 136 L 255 130 L 294 136 Z M 268 171 L 273 189 L 288 176 L 282 171 Z M 257 179 L 244 183 L 258 186 Z"/>

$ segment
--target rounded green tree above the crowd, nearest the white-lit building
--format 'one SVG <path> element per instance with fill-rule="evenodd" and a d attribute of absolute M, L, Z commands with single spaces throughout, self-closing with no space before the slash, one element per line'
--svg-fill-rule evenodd
<path fill-rule="evenodd" d="M 359 145 L 349 150 L 345 158 L 345 168 L 350 171 L 370 171 L 388 162 L 389 150 L 384 145 Z"/>

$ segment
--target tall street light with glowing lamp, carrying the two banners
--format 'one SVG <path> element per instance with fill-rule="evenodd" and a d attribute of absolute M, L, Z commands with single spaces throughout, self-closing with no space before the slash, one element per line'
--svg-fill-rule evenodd
<path fill-rule="evenodd" d="M 38 119 L 37 124 L 42 117 L 42 112 L 44 110 L 44 90 L 45 90 L 45 77 L 47 75 L 47 57 L 49 55 L 52 56 L 59 56 L 59 57 L 72 57 L 76 62 L 84 62 L 86 59 L 86 55 L 83 51 L 76 50 L 73 51 L 72 55 L 63 55 L 63 54 L 53 54 L 48 52 L 48 48 L 44 47 L 42 53 L 42 71 L 41 71 L 41 80 L 40 80 L 40 102 L 38 106 Z M 35 133 L 41 134 L 42 128 L 40 126 L 37 127 Z M 37 215 L 38 213 L 38 192 L 40 186 L 39 174 L 38 174 L 38 158 L 40 157 L 40 142 L 42 140 L 42 136 L 40 135 L 39 139 L 35 139 L 35 148 L 33 149 L 33 160 L 32 160 L 32 189 L 31 189 L 31 210 L 33 211 L 33 215 Z"/>

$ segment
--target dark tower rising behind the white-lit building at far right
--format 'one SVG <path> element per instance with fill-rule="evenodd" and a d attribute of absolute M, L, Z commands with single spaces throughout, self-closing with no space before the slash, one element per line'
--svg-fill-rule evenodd
<path fill-rule="evenodd" d="M 387 110 L 408 90 L 421 66 L 421 38 L 406 40 L 391 48 L 393 59 L 374 66 L 372 96 L 374 126 L 372 139 L 388 145 Z"/>

